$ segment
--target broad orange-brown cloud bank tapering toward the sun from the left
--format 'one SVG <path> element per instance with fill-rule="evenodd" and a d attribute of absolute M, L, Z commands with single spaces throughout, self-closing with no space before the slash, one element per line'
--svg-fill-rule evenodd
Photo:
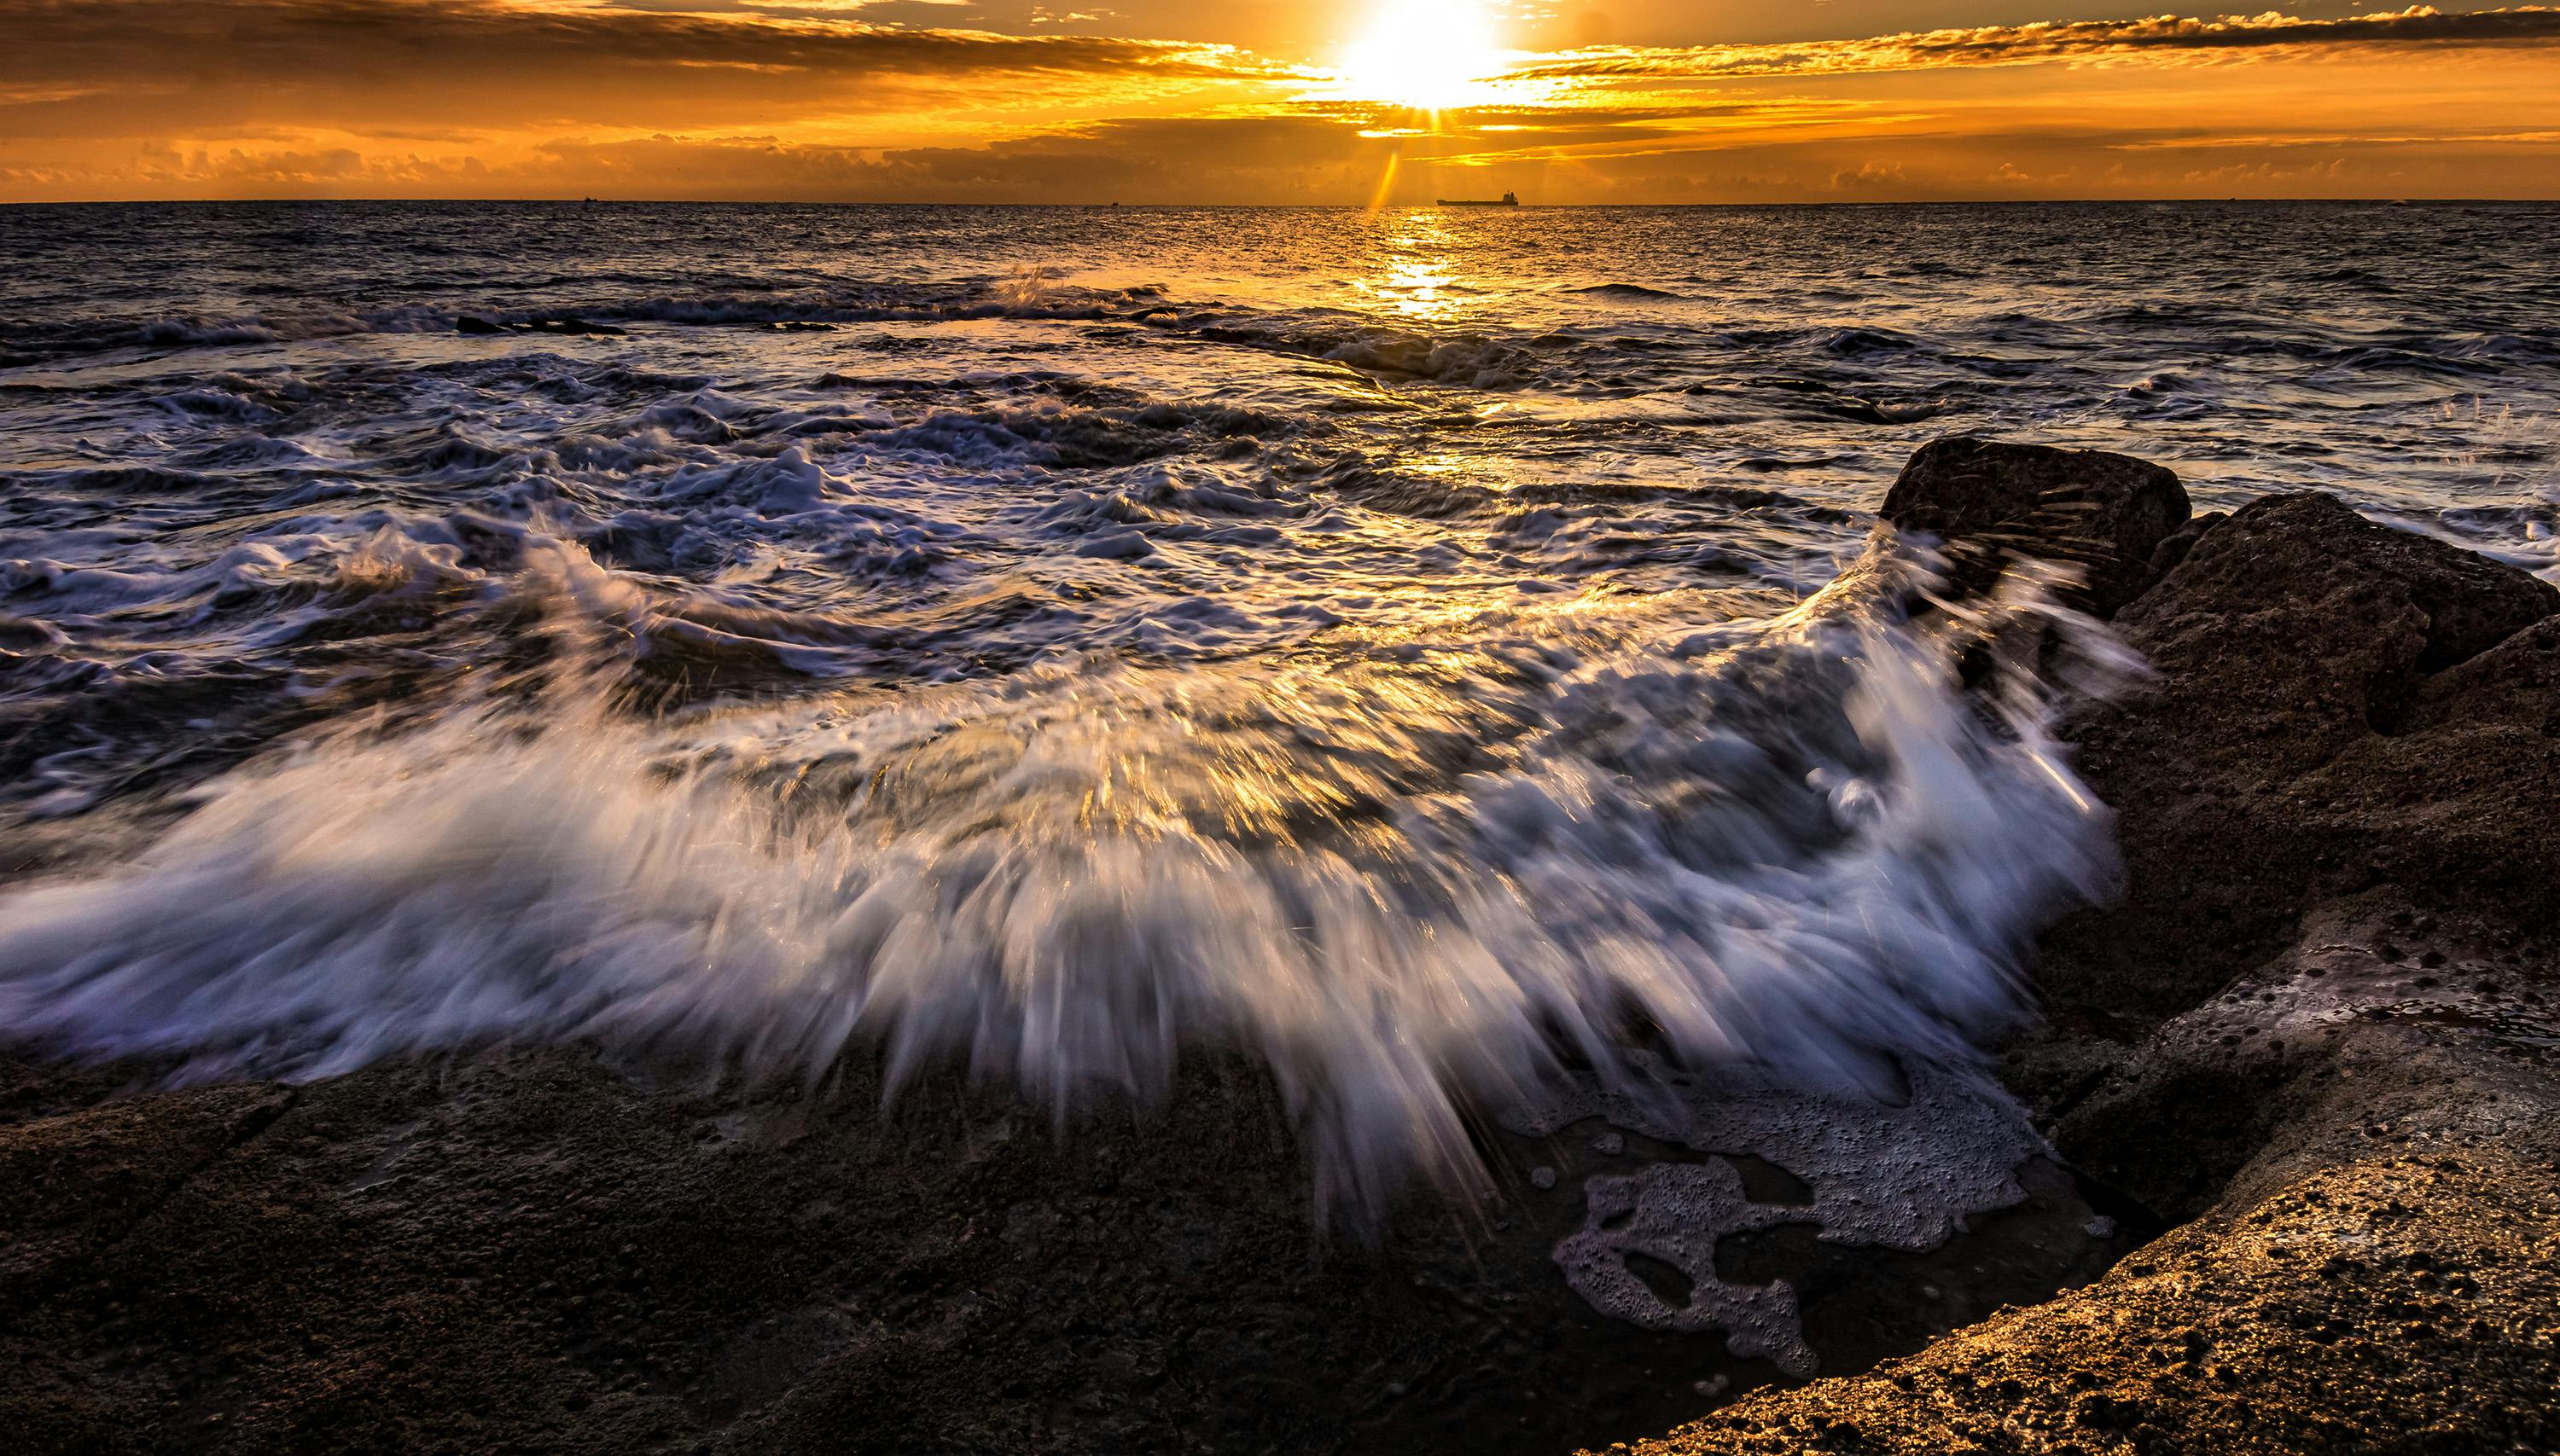
<path fill-rule="evenodd" d="M 494 0 L 0 0 L 0 136 L 727 125 L 934 87 L 1275 74 L 1219 46 Z M 8 100 L 18 92 L 20 100 Z"/>

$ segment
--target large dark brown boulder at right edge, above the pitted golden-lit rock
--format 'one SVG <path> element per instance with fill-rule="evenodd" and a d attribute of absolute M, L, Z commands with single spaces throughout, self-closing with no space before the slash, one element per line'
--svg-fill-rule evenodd
<path fill-rule="evenodd" d="M 2376 883 L 2529 921 L 2560 883 L 2555 612 L 2324 494 L 2204 532 L 2117 617 L 2158 678 L 2066 724 L 2122 814 L 2125 896 L 2045 937 L 2045 990 L 2156 1021 Z"/>

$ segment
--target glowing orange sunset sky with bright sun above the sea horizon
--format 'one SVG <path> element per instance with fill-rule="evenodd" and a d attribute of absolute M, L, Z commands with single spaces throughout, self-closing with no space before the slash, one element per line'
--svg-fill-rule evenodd
<path fill-rule="evenodd" d="M 0 200 L 2560 197 L 2560 8 L 0 0 Z"/>

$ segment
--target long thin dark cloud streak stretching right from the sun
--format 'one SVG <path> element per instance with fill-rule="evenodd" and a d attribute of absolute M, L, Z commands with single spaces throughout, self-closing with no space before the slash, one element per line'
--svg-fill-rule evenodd
<path fill-rule="evenodd" d="M 1933 67 L 2015 67 L 2030 61 L 2076 61 L 2107 56 L 2209 59 L 2237 51 L 2304 49 L 2450 49 L 2450 46 L 2550 46 L 2560 44 L 2560 8 L 2527 5 L 2516 10 L 2437 13 L 2432 8 L 2350 15 L 2345 20 L 2299 20 L 2291 15 L 2225 15 L 2189 20 L 2150 15 L 2143 20 L 2045 20 L 2035 26 L 1974 26 L 1956 31 L 1912 31 L 1859 41 L 1802 41 L 1787 46 L 1603 46 L 1572 51 L 1518 74 L 1546 79 L 1633 79 L 1633 77 L 1818 77 L 1917 72 Z"/>

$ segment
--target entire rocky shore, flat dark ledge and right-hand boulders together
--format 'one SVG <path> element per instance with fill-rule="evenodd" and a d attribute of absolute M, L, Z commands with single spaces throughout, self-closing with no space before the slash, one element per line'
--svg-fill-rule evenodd
<path fill-rule="evenodd" d="M 1485 1128 L 1492 1200 L 1344 1241 L 1244 1057 L 1052 1128 L 957 1082 L 883 1113 L 850 1062 L 750 1088 L 517 1049 L 131 1093 L 148 1070 L 13 1054 L 0 1428 L 23 1451 L 2552 1448 L 2560 591 L 2319 494 L 2189 519 L 2120 455 L 1943 440 L 1884 514 L 1946 537 L 1956 599 L 2074 563 L 2153 676 L 2063 716 L 2125 883 L 2043 937 L 2045 1021 L 2002 1054 L 2058 1162 L 1930 1249 L 1772 1218 L 1700 1262 L 1784 1279 L 1820 1369 L 1864 1374 L 1769 1384 L 1567 1290 L 1554 1249 L 1613 1169 L 1818 1198 L 1603 1118 Z M 1690 1277 L 1646 1285 L 1684 1302 Z"/>

